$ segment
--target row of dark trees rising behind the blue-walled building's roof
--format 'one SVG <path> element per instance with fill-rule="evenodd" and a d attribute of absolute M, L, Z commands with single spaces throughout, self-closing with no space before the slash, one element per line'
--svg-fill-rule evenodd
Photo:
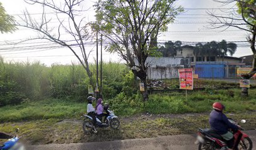
<path fill-rule="evenodd" d="M 224 39 L 221 42 L 211 41 L 206 44 L 198 42 L 193 48 L 193 54 L 195 56 L 218 56 L 224 58 L 224 56 L 233 56 L 237 50 L 237 44 L 233 42 L 227 42 Z M 174 57 L 178 51 L 182 53 L 181 41 L 168 41 L 164 43 L 164 46 L 159 46 L 159 52 L 163 54 L 163 57 Z"/>

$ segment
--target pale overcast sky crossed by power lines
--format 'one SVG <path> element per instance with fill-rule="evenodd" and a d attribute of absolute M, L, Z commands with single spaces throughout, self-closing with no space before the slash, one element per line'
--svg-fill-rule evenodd
<path fill-rule="evenodd" d="M 94 1 L 94 0 L 93 0 Z M 87 0 L 83 5 L 83 9 L 89 9 L 86 11 L 85 16 L 87 21 L 93 21 L 95 19 L 95 12 L 93 11 L 93 1 Z M 28 9 L 36 19 L 40 18 L 37 13 L 41 12 L 40 6 L 31 6 L 26 4 L 23 0 L 1 0 L 4 8 L 8 14 L 16 17 L 16 21 L 21 21 L 18 14 L 23 14 L 25 9 Z M 184 42 L 208 42 L 208 41 L 221 41 L 226 39 L 227 41 L 246 41 L 247 33 L 245 31 L 239 31 L 236 28 L 227 29 L 227 31 L 220 32 L 221 29 L 208 29 L 208 21 L 210 16 L 206 13 L 208 11 L 215 11 L 216 14 L 224 14 L 216 8 L 231 8 L 230 6 L 221 6 L 221 4 L 214 2 L 213 0 L 179 0 L 175 4 L 176 6 L 183 6 L 185 12 L 177 16 L 176 21 L 173 24 L 169 24 L 168 32 L 163 32 L 158 38 L 158 42 L 163 41 L 184 41 Z M 81 6 L 82 7 L 82 6 Z M 52 14 L 48 14 L 51 17 Z M 20 15 L 23 16 L 23 15 Z M 56 24 L 52 23 L 52 26 Z M 8 34 L 1 34 L 0 36 L 0 55 L 4 56 L 6 61 L 40 61 L 46 65 L 53 63 L 70 64 L 72 61 L 77 62 L 77 58 L 72 56 L 72 52 L 67 48 L 58 48 L 56 44 L 52 44 L 46 41 L 31 41 L 25 44 L 16 45 L 16 48 L 11 48 L 4 41 L 16 42 L 19 40 L 28 39 L 29 37 L 36 37 L 37 33 L 29 29 L 19 28 L 18 31 Z M 70 39 L 69 36 L 63 35 L 63 39 Z M 34 43 L 33 43 L 34 42 Z M 29 46 L 35 46 L 38 44 L 41 48 L 28 48 Z M 48 46 L 48 48 L 43 48 Z M 23 47 L 26 47 L 25 49 Z M 52 46 L 52 47 L 51 47 Z M 51 47 L 51 49 L 49 48 Z M 87 51 L 91 49 L 95 50 L 95 45 L 87 45 Z M 93 62 L 96 51 L 93 51 L 90 55 L 89 61 Z M 238 44 L 236 57 L 252 54 L 248 44 Z M 117 54 L 109 54 L 104 52 L 104 61 L 120 61 L 121 59 Z"/>

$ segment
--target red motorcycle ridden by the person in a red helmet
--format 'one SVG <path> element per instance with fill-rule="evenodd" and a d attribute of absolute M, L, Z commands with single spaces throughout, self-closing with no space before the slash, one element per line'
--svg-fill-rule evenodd
<path fill-rule="evenodd" d="M 233 119 L 228 119 L 230 123 L 237 123 Z M 241 123 L 245 123 L 245 120 L 241 120 Z M 244 129 L 239 128 L 237 131 L 233 132 L 235 138 L 234 149 L 247 149 L 252 150 L 252 140 L 249 136 L 243 133 Z M 195 144 L 199 144 L 198 149 L 205 150 L 227 150 L 227 144 L 225 139 L 223 139 L 220 134 L 216 134 L 215 131 L 211 129 L 200 129 L 198 130 L 198 136 Z"/>

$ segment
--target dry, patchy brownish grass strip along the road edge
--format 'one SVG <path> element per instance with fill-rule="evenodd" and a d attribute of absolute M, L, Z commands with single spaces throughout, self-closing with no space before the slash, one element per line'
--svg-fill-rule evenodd
<path fill-rule="evenodd" d="M 152 138 L 177 134 L 196 133 L 198 128 L 208 128 L 209 113 L 141 114 L 122 117 L 120 128 L 100 128 L 97 134 L 84 134 L 82 119 L 48 119 L 23 123 L 0 124 L 0 131 L 13 133 L 20 128 L 19 136 L 29 144 L 84 143 L 117 139 Z M 256 112 L 227 114 L 235 120 L 247 119 L 242 127 L 255 129 Z"/>

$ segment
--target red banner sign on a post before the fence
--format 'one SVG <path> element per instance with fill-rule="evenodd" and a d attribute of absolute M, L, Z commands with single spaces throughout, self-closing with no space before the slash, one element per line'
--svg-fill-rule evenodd
<path fill-rule="evenodd" d="M 193 90 L 193 69 L 179 69 L 179 89 Z"/>

